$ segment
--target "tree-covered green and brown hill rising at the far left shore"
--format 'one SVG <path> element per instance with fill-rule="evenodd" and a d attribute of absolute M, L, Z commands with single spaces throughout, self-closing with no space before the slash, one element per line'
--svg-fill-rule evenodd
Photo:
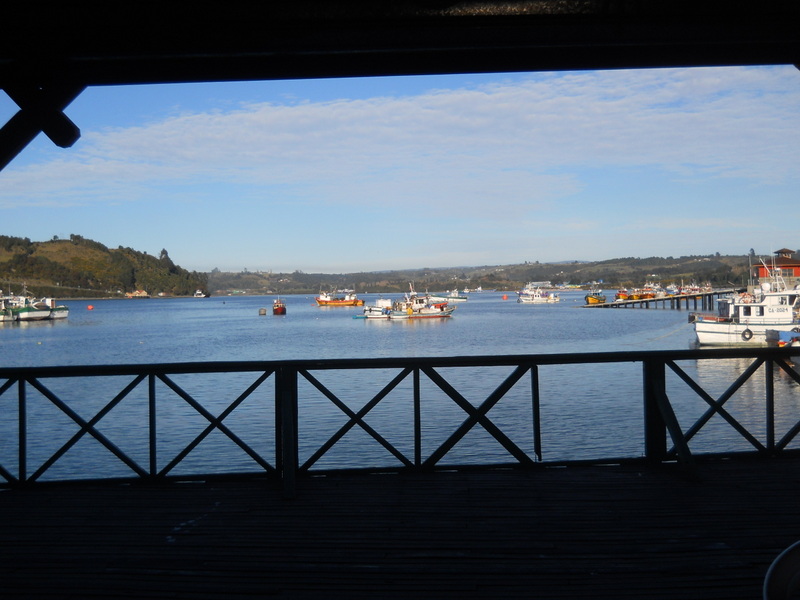
<path fill-rule="evenodd" d="M 144 290 L 151 296 L 188 296 L 207 291 L 205 273 L 187 271 L 170 260 L 132 248 L 107 248 L 79 235 L 31 242 L 0 236 L 0 288 L 34 296 L 117 297 Z"/>

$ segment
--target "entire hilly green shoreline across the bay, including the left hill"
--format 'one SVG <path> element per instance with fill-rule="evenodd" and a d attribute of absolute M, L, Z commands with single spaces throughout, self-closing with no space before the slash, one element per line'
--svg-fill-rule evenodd
<path fill-rule="evenodd" d="M 195 290 L 217 294 L 315 294 L 320 290 L 351 288 L 359 293 L 397 293 L 413 283 L 419 291 L 477 288 L 512 291 L 529 281 L 554 286 L 586 286 L 601 282 L 606 290 L 641 287 L 646 282 L 730 287 L 747 284 L 751 260 L 757 257 L 698 255 L 627 257 L 613 260 L 479 267 L 422 267 L 360 273 L 190 272 L 175 265 L 166 250 L 158 257 L 122 246 L 103 244 L 71 235 L 31 242 L 0 236 L 0 288 L 19 293 L 22 286 L 35 296 L 117 297 L 135 290 L 151 296 L 188 296 Z"/>

